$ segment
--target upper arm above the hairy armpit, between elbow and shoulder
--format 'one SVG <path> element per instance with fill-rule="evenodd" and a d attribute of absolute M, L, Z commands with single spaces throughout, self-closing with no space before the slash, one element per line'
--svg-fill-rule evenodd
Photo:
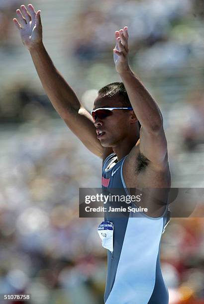
<path fill-rule="evenodd" d="M 167 140 L 163 125 L 157 131 L 140 129 L 140 152 L 156 167 L 163 167 L 167 160 Z"/>

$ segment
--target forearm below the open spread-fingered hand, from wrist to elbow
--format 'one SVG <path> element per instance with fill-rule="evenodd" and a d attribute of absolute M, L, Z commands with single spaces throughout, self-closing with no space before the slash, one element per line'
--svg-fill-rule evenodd
<path fill-rule="evenodd" d="M 43 44 L 30 49 L 30 54 L 43 88 L 62 118 L 80 109 L 80 102 L 66 80 L 55 68 Z"/>

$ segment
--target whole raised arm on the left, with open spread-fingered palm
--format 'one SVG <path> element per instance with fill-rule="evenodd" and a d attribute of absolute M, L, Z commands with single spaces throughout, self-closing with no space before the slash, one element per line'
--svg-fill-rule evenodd
<path fill-rule="evenodd" d="M 29 50 L 38 76 L 53 107 L 70 130 L 94 154 L 103 157 L 104 148 L 97 139 L 91 114 L 81 105 L 74 90 L 61 76 L 50 59 L 42 41 L 40 10 L 32 4 L 20 6 L 13 19 L 23 44 Z"/>

